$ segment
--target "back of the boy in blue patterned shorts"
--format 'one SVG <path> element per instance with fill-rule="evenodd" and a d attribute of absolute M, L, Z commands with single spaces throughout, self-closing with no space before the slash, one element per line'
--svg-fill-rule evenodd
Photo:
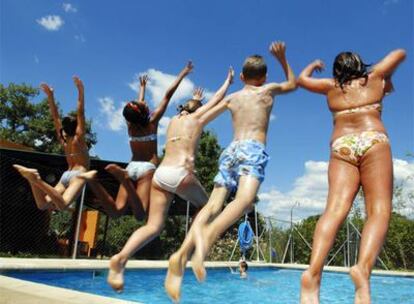
<path fill-rule="evenodd" d="M 253 139 L 266 143 L 273 96 L 267 86 L 246 85 L 229 96 L 234 140 Z"/>

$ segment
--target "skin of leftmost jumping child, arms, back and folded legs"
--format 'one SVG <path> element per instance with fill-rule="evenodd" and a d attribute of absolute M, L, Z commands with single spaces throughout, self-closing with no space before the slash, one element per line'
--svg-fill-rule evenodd
<path fill-rule="evenodd" d="M 89 169 L 89 153 L 85 142 L 84 86 L 79 77 L 74 76 L 73 80 L 78 89 L 77 127 L 74 136 L 69 136 L 64 131 L 63 134 L 60 133 L 62 123 L 55 103 L 53 88 L 46 83 L 41 84 L 40 87 L 47 96 L 56 135 L 65 151 L 68 170 L 87 171 Z M 52 187 L 41 179 L 36 169 L 20 165 L 13 166 L 29 182 L 36 205 L 41 210 L 64 210 L 77 199 L 85 184 L 84 180 L 74 177 L 67 188 L 61 182 Z"/>

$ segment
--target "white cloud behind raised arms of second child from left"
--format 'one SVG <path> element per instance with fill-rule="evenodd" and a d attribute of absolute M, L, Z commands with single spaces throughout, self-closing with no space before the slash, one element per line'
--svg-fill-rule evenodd
<path fill-rule="evenodd" d="M 133 81 L 128 83 L 129 87 L 135 92 L 138 92 L 139 90 L 139 76 L 144 74 L 149 77 L 147 91 L 150 94 L 150 100 L 154 106 L 157 106 L 167 92 L 168 87 L 177 78 L 177 75 L 167 74 L 156 69 L 148 69 L 145 72 L 138 73 L 134 76 Z M 184 78 L 171 98 L 171 103 L 179 103 L 185 99 L 191 98 L 194 88 L 195 84 L 190 79 Z M 213 94 L 214 93 L 209 90 L 204 90 L 204 100 L 208 100 Z"/>

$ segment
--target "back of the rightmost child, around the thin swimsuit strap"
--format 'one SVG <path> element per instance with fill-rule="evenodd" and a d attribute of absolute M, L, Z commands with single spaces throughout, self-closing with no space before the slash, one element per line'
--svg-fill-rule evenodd
<path fill-rule="evenodd" d="M 329 109 L 335 113 L 381 103 L 386 93 L 384 88 L 384 78 L 376 73 L 370 73 L 367 79 L 352 80 L 343 89 L 339 85 L 333 85 L 327 92 Z M 336 115 L 332 140 L 345 134 L 363 131 L 386 132 L 381 121 L 380 110 L 371 109 Z"/>

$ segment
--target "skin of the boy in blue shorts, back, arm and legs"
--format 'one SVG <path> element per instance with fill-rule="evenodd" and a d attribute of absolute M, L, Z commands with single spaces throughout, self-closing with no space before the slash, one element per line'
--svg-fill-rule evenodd
<path fill-rule="evenodd" d="M 232 114 L 234 140 L 253 139 L 265 143 L 274 96 L 296 88 L 293 71 L 286 60 L 284 43 L 272 43 L 270 52 L 280 62 L 287 81 L 265 84 L 266 76 L 260 79 L 246 79 L 240 75 L 245 84 L 244 88 L 226 97 L 222 109 L 222 111 L 228 109 Z M 219 185 L 214 187 L 207 204 L 197 215 L 180 249 L 170 258 L 169 273 L 181 268 L 180 271 L 175 271 L 176 277 L 174 281 L 171 280 L 171 284 L 167 275 L 166 290 L 173 300 L 178 301 L 180 298 L 183 269 L 189 256 L 193 254 L 191 264 L 197 279 L 204 280 L 203 263 L 210 247 L 220 234 L 242 216 L 245 210 L 251 208 L 259 185 L 259 180 L 255 177 L 241 176 L 235 200 L 218 215 L 229 190 Z"/>

